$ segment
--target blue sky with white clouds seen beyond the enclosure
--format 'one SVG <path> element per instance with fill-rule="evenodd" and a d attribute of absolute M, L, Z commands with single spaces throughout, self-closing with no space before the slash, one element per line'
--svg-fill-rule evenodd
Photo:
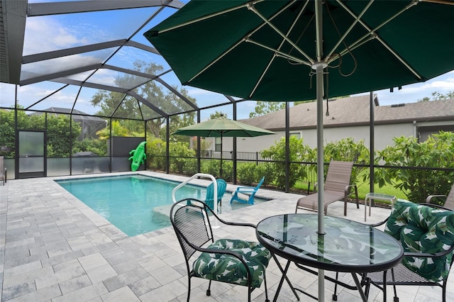
<path fill-rule="evenodd" d="M 106 42 L 109 40 L 116 40 L 132 35 L 140 24 L 145 22 L 149 16 L 155 11 L 154 8 L 138 9 L 138 10 L 121 10 L 121 11 L 104 11 L 96 13 L 79 13 L 69 15 L 56 15 L 56 16 L 39 16 L 27 18 L 26 23 L 26 40 L 23 47 L 23 55 L 31 55 L 40 52 L 48 52 L 51 50 L 60 50 L 67 47 L 77 47 L 79 45 L 87 45 L 91 43 Z M 144 45 L 150 45 L 148 40 L 143 37 L 143 32 L 155 26 L 164 18 L 170 15 L 175 10 L 168 10 L 162 13 L 162 16 L 157 18 L 152 23 L 145 26 L 139 33 L 134 35 L 133 40 Z M 118 18 L 128 20 L 127 26 L 125 23 L 115 22 Z M 45 43 L 42 43 L 45 41 Z M 125 47 L 123 47 L 125 48 Z M 118 52 L 115 60 L 111 60 L 108 64 L 133 68 L 135 60 L 153 61 L 162 65 L 165 69 L 170 69 L 167 62 L 162 57 L 157 55 L 150 55 L 148 52 L 137 50 L 133 47 L 127 47 L 128 50 L 121 50 Z M 131 50 L 131 48 L 133 48 Z M 89 55 L 72 55 L 55 59 L 53 62 L 45 63 L 32 63 L 26 66 L 27 72 L 32 74 L 39 74 L 43 72 L 58 72 L 59 68 L 67 66 L 77 66 L 79 64 L 89 64 L 102 62 L 104 58 L 109 56 L 109 51 L 92 52 Z M 106 55 L 107 54 L 107 55 Z M 81 74 L 82 75 L 82 74 Z M 79 77 L 81 76 L 79 75 Z M 96 82 L 100 84 L 114 83 L 119 74 L 109 70 L 101 69 L 96 74 Z M 77 76 L 76 76 L 77 77 Z M 170 84 L 179 84 L 175 74 L 170 73 L 162 77 Z M 33 84 L 21 86 L 19 88 L 19 102 L 24 106 L 30 106 L 35 101 L 38 101 L 43 96 L 50 94 L 62 84 L 55 84 L 52 82 L 44 82 L 43 84 Z M 221 104 L 227 99 L 221 94 L 216 94 L 211 91 L 204 91 L 194 87 L 185 86 L 189 91 L 189 95 L 197 99 L 199 106 L 211 106 L 212 104 Z M 433 92 L 437 91 L 440 94 L 446 94 L 449 91 L 454 91 L 454 71 L 443 74 L 439 77 L 431 79 L 424 83 L 411 84 L 402 86 L 402 90 L 394 89 L 394 92 L 387 90 L 374 91 L 377 94 L 380 106 L 387 106 L 392 104 L 412 103 L 424 97 L 431 97 Z M 82 93 L 78 96 L 77 109 L 87 113 L 94 113 L 92 111 L 98 108 L 90 108 L 89 104 L 92 95 L 96 93 L 96 89 L 82 89 Z M 71 107 L 75 97 L 78 94 L 78 88 L 73 86 L 60 91 L 55 96 L 52 96 L 48 104 L 43 104 L 44 109 L 50 107 L 51 102 L 60 104 L 61 107 Z M 11 106 L 8 100 L 14 99 L 13 85 L 0 84 L 0 106 Z M 5 101 L 7 100 L 7 101 Z M 249 113 L 255 109 L 255 102 L 247 101 L 238 105 L 238 119 L 248 118 Z M 233 118 L 232 106 L 213 108 L 211 110 L 202 111 L 202 120 L 209 118 L 209 114 L 215 111 L 223 111 L 227 113 L 228 118 Z"/>

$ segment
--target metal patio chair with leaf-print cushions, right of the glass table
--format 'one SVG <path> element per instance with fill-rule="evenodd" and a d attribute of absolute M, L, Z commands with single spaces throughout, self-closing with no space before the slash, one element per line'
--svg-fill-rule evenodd
<path fill-rule="evenodd" d="M 393 269 L 364 276 L 366 295 L 370 285 L 374 285 L 383 291 L 383 301 L 387 301 L 383 284 L 392 285 L 394 302 L 397 302 L 396 286 L 440 286 L 445 302 L 446 285 L 453 264 L 454 211 L 398 200 L 389 218 L 374 226 L 384 223 L 385 233 L 401 242 L 404 259 Z"/>

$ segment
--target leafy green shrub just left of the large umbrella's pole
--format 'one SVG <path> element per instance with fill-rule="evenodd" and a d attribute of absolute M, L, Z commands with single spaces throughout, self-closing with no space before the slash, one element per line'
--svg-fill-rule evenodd
<path fill-rule="evenodd" d="M 290 162 L 304 162 L 308 157 L 313 156 L 313 151 L 303 144 L 303 139 L 296 136 L 289 138 L 289 161 Z M 301 177 L 306 177 L 306 172 L 301 164 L 290 164 L 290 174 L 285 172 L 285 138 L 281 138 L 279 142 L 271 146 L 267 150 L 262 151 L 263 157 L 269 157 L 274 162 L 272 163 L 272 171 L 269 177 L 272 183 L 276 184 L 279 188 L 285 188 L 285 179 L 289 178 L 289 185 L 292 187 Z"/>

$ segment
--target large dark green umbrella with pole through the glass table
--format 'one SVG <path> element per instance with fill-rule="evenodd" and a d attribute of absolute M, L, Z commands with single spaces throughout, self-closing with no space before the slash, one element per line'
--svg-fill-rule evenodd
<path fill-rule="evenodd" d="M 451 4 L 193 0 L 145 37 L 182 84 L 259 101 L 317 100 L 323 234 L 323 99 L 424 82 L 453 70 Z"/>

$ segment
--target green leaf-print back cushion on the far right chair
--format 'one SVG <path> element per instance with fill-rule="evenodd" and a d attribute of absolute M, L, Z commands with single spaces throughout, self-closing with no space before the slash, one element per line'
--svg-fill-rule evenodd
<path fill-rule="evenodd" d="M 398 199 L 384 231 L 399 240 L 404 252 L 436 253 L 454 244 L 454 211 Z M 404 265 L 431 281 L 448 277 L 453 253 L 443 257 L 404 257 Z"/>

